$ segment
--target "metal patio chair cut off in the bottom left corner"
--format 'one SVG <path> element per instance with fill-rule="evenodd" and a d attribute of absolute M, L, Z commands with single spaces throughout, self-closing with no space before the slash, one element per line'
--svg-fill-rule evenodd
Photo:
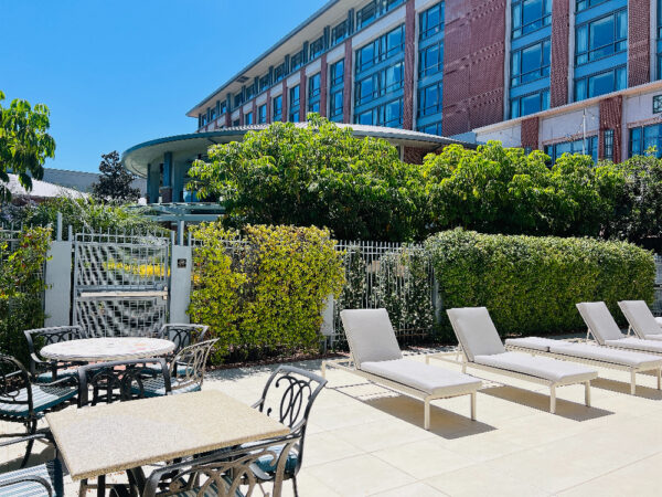
<path fill-rule="evenodd" d="M 47 438 L 45 434 L 23 436 L 0 443 L 0 447 L 11 444 L 34 442 L 38 438 Z M 64 482 L 62 479 L 62 463 L 54 458 L 47 463 L 32 466 L 25 469 L 15 469 L 13 472 L 0 475 L 0 495 L 8 496 L 64 496 Z"/>

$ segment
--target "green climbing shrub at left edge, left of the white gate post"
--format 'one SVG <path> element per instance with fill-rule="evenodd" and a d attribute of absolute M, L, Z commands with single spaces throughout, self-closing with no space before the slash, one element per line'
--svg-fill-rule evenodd
<path fill-rule="evenodd" d="M 51 230 L 32 228 L 18 241 L 0 243 L 0 348 L 28 364 L 23 330 L 44 322 L 42 293 L 46 289 L 43 267 L 51 243 Z"/>

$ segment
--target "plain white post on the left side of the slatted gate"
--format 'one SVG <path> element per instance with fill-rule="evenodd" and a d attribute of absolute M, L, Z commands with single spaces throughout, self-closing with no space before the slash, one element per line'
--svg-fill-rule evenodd
<path fill-rule="evenodd" d="M 58 230 L 62 239 L 62 230 Z M 68 326 L 72 308 L 72 241 L 51 242 L 46 261 L 44 292 L 44 326 Z"/>

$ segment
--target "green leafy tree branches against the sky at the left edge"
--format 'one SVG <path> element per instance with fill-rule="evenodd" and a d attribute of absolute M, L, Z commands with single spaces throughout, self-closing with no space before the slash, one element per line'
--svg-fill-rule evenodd
<path fill-rule="evenodd" d="M 49 108 L 34 108 L 22 99 L 13 99 L 9 108 L 2 106 L 0 92 L 0 199 L 9 200 L 9 173 L 18 175 L 19 182 L 32 189 L 32 178 L 42 179 L 46 158 L 55 157 L 55 140 L 47 130 L 51 126 Z M 4 184 L 2 184 L 4 183 Z"/>

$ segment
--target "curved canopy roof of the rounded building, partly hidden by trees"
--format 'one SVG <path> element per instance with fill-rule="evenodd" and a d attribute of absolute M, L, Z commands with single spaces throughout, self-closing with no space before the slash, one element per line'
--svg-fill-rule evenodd
<path fill-rule="evenodd" d="M 188 135 L 158 138 L 129 148 L 122 154 L 121 161 L 129 171 L 145 178 L 147 177 L 147 165 L 162 162 L 166 152 L 172 152 L 178 156 L 188 155 L 193 159 L 199 155 L 206 154 L 209 147 L 212 145 L 241 141 L 246 133 L 259 131 L 266 129 L 268 126 L 269 125 L 267 124 L 236 126 L 218 129 L 216 131 L 192 133 Z M 296 123 L 296 126 L 306 127 L 308 126 L 308 123 Z M 393 145 L 423 148 L 429 151 L 437 150 L 439 147 L 450 144 L 459 144 L 467 148 L 476 148 L 474 144 L 453 140 L 437 135 L 412 131 L 408 129 L 348 124 L 338 124 L 338 126 L 352 128 L 354 136 L 356 137 L 372 136 L 374 138 L 388 140 Z"/>

